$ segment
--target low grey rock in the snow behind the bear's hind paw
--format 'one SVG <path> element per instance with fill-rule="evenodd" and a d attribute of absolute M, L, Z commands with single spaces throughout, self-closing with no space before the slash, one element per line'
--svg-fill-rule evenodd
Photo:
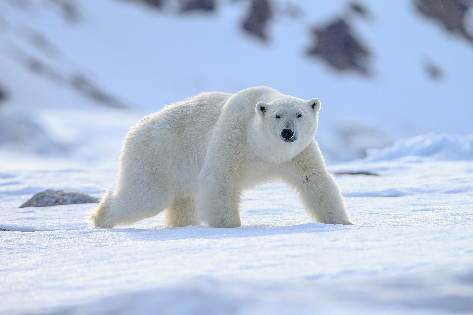
<path fill-rule="evenodd" d="M 98 198 L 89 196 L 77 190 L 47 189 L 35 194 L 30 200 L 22 204 L 20 208 L 48 207 L 60 204 L 89 204 L 97 202 Z"/>

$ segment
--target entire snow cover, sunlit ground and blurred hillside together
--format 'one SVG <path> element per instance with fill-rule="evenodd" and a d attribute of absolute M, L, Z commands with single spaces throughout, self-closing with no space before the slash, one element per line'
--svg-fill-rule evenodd
<path fill-rule="evenodd" d="M 442 1 L 470 6 L 472 34 L 471 1 Z M 146 2 L 0 0 L 2 314 L 473 314 L 468 37 L 422 0 L 365 0 L 358 16 L 273 0 L 266 41 L 242 31 L 249 0 Z M 311 28 L 338 18 L 368 75 L 307 55 Z M 311 222 L 280 183 L 245 192 L 238 229 L 165 229 L 162 214 L 91 229 L 93 204 L 18 208 L 49 188 L 99 197 L 140 117 L 252 85 L 320 98 L 330 171 L 379 175 L 337 175 L 357 225 Z"/>

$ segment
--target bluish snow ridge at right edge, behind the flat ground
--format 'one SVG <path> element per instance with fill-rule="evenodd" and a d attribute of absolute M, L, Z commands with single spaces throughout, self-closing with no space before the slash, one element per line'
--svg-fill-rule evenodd
<path fill-rule="evenodd" d="M 394 160 L 407 156 L 429 157 L 430 160 L 473 160 L 473 135 L 419 135 L 397 140 L 385 149 L 369 149 L 370 161 Z"/>

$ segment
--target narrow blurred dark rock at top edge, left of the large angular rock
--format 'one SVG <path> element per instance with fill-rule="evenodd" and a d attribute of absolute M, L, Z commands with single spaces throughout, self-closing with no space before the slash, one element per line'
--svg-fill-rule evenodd
<path fill-rule="evenodd" d="M 252 0 L 248 14 L 243 21 L 243 29 L 266 41 L 268 39 L 266 32 L 272 17 L 271 2 L 268 0 Z"/>

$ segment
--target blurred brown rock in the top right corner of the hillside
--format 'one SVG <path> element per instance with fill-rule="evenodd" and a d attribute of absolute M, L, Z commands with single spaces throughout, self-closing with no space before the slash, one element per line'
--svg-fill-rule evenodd
<path fill-rule="evenodd" d="M 462 35 L 473 43 L 473 34 L 467 32 L 464 18 L 469 6 L 461 0 L 413 0 L 420 14 L 434 19 L 448 32 Z M 471 6 L 471 4 L 470 4 Z"/>

